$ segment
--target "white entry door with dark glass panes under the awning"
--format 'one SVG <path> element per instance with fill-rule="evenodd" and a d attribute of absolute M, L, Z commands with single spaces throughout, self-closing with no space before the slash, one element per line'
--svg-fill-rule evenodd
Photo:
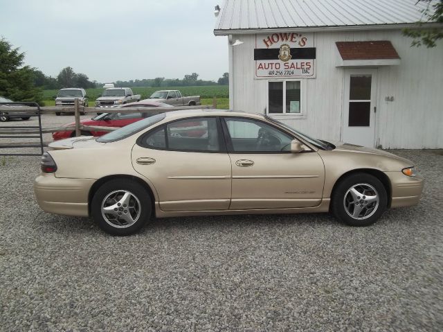
<path fill-rule="evenodd" d="M 374 148 L 377 69 L 346 69 L 341 140 Z"/>

